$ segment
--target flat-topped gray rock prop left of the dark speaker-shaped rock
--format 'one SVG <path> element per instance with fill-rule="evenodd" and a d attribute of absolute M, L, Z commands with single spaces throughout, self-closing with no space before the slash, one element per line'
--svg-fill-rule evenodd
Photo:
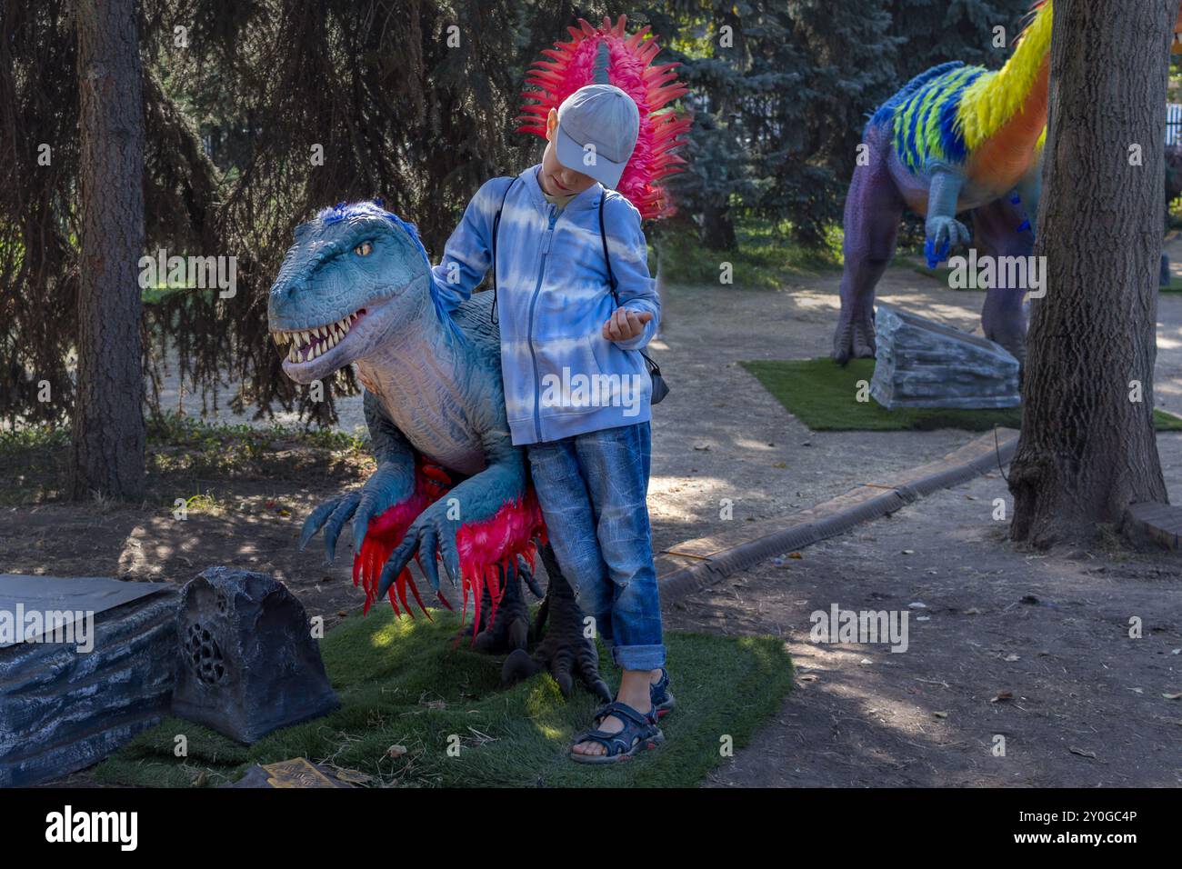
<path fill-rule="evenodd" d="M 0 618 L 50 625 L 0 637 L 0 786 L 90 766 L 168 713 L 177 602 L 163 583 L 0 575 Z"/>

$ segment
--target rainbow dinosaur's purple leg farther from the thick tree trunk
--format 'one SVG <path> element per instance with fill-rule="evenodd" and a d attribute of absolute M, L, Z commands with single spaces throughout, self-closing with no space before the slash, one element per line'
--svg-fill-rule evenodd
<path fill-rule="evenodd" d="M 866 130 L 869 162 L 853 170 L 845 199 L 845 270 L 842 316 L 833 332 L 833 361 L 875 355 L 875 286 L 895 255 L 903 199 L 890 174 L 890 138 Z"/>

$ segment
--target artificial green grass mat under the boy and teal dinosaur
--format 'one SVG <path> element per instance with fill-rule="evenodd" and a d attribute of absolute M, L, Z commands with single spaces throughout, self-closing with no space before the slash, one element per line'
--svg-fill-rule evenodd
<path fill-rule="evenodd" d="M 773 715 L 792 685 L 792 662 L 773 637 L 667 633 L 677 708 L 661 725 L 665 744 L 604 766 L 567 758 L 599 702 L 577 687 L 564 699 L 548 674 L 502 689 L 504 656 L 454 646 L 459 620 L 431 610 L 397 620 L 388 608 L 350 617 L 320 641 L 340 708 L 287 727 L 251 747 L 170 718 L 95 767 L 103 783 L 216 786 L 252 764 L 294 757 L 357 770 L 371 785 L 402 786 L 695 786 Z M 470 616 L 469 616 L 470 617 Z M 600 647 L 609 686 L 619 674 Z M 188 757 L 174 755 L 177 734 Z M 391 746 L 403 746 L 392 757 Z M 459 745 L 459 752 L 449 747 Z M 454 755 L 453 755 L 454 754 Z"/>

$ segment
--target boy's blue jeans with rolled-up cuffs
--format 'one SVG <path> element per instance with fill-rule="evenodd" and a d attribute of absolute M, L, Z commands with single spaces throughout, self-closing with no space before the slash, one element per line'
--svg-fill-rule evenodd
<path fill-rule="evenodd" d="M 625 670 L 664 667 L 645 500 L 650 439 L 641 422 L 526 448 L 558 565 Z"/>

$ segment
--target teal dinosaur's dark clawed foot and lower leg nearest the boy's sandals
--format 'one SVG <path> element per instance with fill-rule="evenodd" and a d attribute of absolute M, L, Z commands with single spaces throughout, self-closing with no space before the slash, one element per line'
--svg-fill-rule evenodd
<path fill-rule="evenodd" d="M 556 573 L 551 571 L 550 590 L 538 612 L 535 633 L 541 631 L 547 614 L 550 616 L 545 637 L 532 656 L 524 649 L 512 653 L 501 668 L 501 681 L 515 685 L 546 670 L 558 682 L 563 696 L 571 695 L 578 679 L 589 692 L 611 702 L 608 683 L 599 676 L 599 651 L 595 640 L 583 635 L 583 612 L 574 594 L 561 573 Z"/>

